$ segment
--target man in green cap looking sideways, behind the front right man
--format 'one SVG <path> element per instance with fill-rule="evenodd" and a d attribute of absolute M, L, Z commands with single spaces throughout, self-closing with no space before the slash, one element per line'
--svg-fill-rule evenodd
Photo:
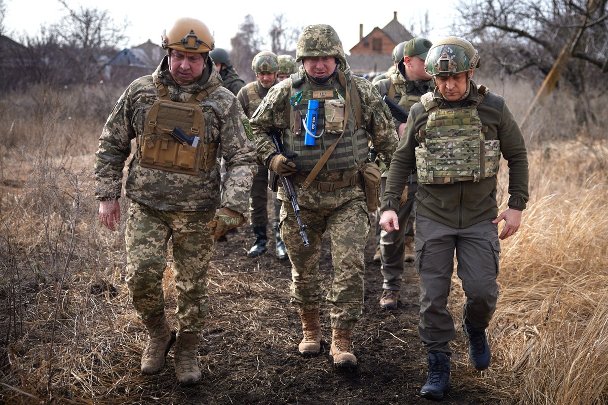
<path fill-rule="evenodd" d="M 413 104 L 420 101 L 421 95 L 430 90 L 430 75 L 424 70 L 424 59 L 432 44 L 425 38 L 412 38 L 401 47 L 402 53 L 397 63 L 398 72 L 390 78 L 377 81 L 374 86 L 378 89 L 381 97 L 385 95 L 399 104 L 402 109 L 410 111 Z M 401 137 L 406 123 L 395 119 L 397 134 Z M 382 191 L 386 185 L 387 171 L 382 173 Z M 399 230 L 387 233 L 381 232 L 380 259 L 382 266 L 380 271 L 384 277 L 382 284 L 382 296 L 380 306 L 391 309 L 398 305 L 399 291 L 401 290 L 401 274 L 403 273 L 403 262 L 414 260 L 414 228 L 413 210 L 415 194 L 418 189 L 416 171 L 413 170 L 407 181 L 407 200 L 399 206 L 397 216 L 399 217 Z"/>

